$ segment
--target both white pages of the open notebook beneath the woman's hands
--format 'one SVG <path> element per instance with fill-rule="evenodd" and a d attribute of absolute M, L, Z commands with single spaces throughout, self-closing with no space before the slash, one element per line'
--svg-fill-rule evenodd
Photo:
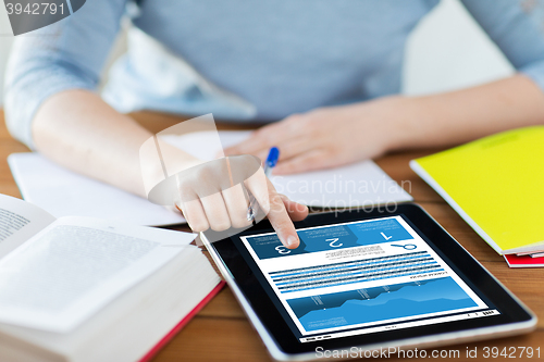
<path fill-rule="evenodd" d="M 249 136 L 249 132 L 220 132 L 224 148 Z M 168 142 L 202 160 L 213 160 L 207 132 L 163 136 Z M 8 158 L 17 186 L 27 201 L 55 217 L 76 215 L 132 222 L 138 225 L 184 223 L 181 214 L 113 186 L 82 176 L 38 153 Z M 411 196 L 374 162 L 364 161 L 333 170 L 271 177 L 276 189 L 290 199 L 322 208 L 361 207 L 411 201 Z"/>

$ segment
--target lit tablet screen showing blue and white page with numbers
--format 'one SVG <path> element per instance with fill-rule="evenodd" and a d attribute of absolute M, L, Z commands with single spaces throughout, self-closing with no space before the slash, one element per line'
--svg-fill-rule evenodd
<path fill-rule="evenodd" d="M 500 314 L 400 215 L 240 236 L 300 342 Z"/>

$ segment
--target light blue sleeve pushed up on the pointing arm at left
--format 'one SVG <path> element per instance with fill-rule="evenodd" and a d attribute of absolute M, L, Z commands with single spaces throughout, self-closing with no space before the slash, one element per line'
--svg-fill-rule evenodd
<path fill-rule="evenodd" d="M 119 33 L 126 0 L 92 0 L 58 23 L 20 35 L 5 73 L 5 121 L 34 149 L 32 122 L 40 104 L 67 89 L 95 90 Z"/>

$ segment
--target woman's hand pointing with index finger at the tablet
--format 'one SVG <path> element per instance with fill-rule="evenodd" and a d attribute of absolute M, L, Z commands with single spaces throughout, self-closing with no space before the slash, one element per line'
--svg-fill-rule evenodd
<path fill-rule="evenodd" d="M 299 238 L 293 221 L 304 220 L 308 208 L 280 195 L 251 155 L 223 158 L 188 168 L 177 176 L 176 205 L 190 228 L 224 232 L 247 228 L 248 191 L 267 214 L 283 245 L 297 248 Z"/>

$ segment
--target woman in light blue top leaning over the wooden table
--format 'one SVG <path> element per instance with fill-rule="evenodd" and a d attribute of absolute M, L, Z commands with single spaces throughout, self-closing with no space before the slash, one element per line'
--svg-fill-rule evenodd
<path fill-rule="evenodd" d="M 277 146 L 279 174 L 542 123 L 544 39 L 514 0 L 462 3 L 516 75 L 455 92 L 397 96 L 407 37 L 437 2 L 141 0 L 126 7 L 125 0 L 88 1 L 41 30 L 54 35 L 17 39 L 8 73 L 8 124 L 48 158 L 143 195 L 137 150 L 150 134 L 120 111 L 281 120 L 227 150 L 262 159 Z M 137 38 L 153 38 L 178 61 L 165 62 L 152 46 L 131 42 L 104 95 L 112 108 L 92 91 L 125 12 L 140 30 Z M 298 237 L 289 216 L 302 219 L 307 210 L 282 200 L 267 183 L 262 178 L 260 185 L 270 191 L 269 219 L 294 248 Z M 246 212 L 246 203 L 234 205 L 233 199 L 238 200 L 202 198 L 184 214 L 197 232 L 223 229 L 240 223 Z"/>

